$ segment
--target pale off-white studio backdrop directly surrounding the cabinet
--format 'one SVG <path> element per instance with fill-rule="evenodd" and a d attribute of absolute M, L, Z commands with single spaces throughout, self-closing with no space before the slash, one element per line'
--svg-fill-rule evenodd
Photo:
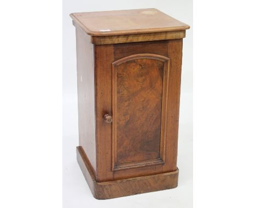
<path fill-rule="evenodd" d="M 70 13 L 156 8 L 187 23 L 183 39 L 181 108 L 179 119 L 177 188 L 100 201 L 92 197 L 76 161 L 78 146 L 75 28 Z M 177 1 L 63 1 L 63 207 L 181 207 L 193 206 L 193 2 Z"/>

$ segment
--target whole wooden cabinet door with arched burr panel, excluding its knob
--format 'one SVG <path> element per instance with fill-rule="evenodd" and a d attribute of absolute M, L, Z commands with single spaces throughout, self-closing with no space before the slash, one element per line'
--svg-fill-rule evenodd
<path fill-rule="evenodd" d="M 176 170 L 181 55 L 182 39 L 95 46 L 98 181 Z"/>

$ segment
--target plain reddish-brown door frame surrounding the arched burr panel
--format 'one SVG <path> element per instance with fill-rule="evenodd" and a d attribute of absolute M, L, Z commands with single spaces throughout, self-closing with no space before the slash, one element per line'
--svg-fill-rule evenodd
<path fill-rule="evenodd" d="M 112 115 L 112 63 L 140 53 L 151 53 L 170 58 L 167 85 L 168 111 L 166 113 L 166 157 L 164 164 L 139 168 L 112 170 L 112 124 L 104 122 L 104 115 Z M 177 139 L 179 119 L 179 92 L 181 84 L 182 39 L 95 45 L 96 93 L 96 154 L 98 182 L 127 179 L 138 176 L 174 172 L 177 169 Z M 144 122 L 144 120 L 142 120 Z"/>

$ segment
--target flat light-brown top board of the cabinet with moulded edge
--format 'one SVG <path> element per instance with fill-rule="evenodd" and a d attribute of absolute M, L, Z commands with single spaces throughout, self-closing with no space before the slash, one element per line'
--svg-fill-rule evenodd
<path fill-rule="evenodd" d="M 70 14 L 87 34 L 92 36 L 167 32 L 189 29 L 158 9 L 96 11 Z"/>

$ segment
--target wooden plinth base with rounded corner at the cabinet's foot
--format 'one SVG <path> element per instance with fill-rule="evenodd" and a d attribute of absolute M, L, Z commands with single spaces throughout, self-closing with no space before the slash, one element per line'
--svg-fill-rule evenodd
<path fill-rule="evenodd" d="M 77 146 L 77 161 L 96 199 L 125 197 L 127 195 L 160 191 L 178 186 L 178 168 L 176 171 L 169 173 L 97 182 L 88 162 L 88 158 L 84 154 L 84 150 L 81 146 Z"/>

